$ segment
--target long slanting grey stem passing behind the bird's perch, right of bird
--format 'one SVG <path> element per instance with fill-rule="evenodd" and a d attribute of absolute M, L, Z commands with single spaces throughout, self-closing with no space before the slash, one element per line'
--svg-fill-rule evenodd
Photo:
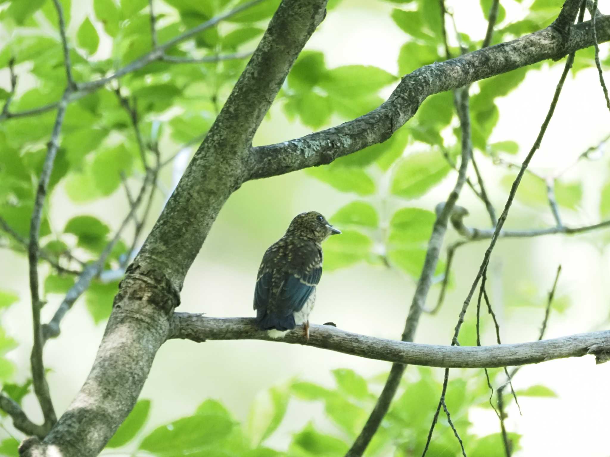
<path fill-rule="evenodd" d="M 467 97 L 464 97 L 462 102 L 465 104 L 464 113 L 468 113 Z M 469 135 L 462 135 L 462 161 L 460 163 L 458 179 L 456 180 L 453 190 L 449 194 L 447 202 L 445 204 L 437 205 L 437 218 L 432 227 L 432 235 L 428 242 L 428 251 L 426 252 L 422 274 L 417 282 L 415 294 L 411 302 L 411 308 L 409 308 L 409 315 L 407 316 L 404 325 L 404 331 L 401 337 L 402 341 L 413 341 L 415 338 L 415 330 L 419 323 L 419 318 L 425 309 L 426 298 L 428 297 L 432 277 L 434 276 L 436 264 L 439 260 L 440 247 L 442 246 L 443 238 L 447 230 L 447 222 L 466 181 L 466 171 L 468 169 L 468 161 L 471 153 L 470 142 L 467 138 L 469 138 Z M 381 420 L 386 416 L 386 413 L 390 408 L 390 403 L 397 392 L 398 385 L 400 384 L 405 369 L 406 365 L 403 364 L 395 363 L 392 365 L 390 375 L 386 380 L 386 384 L 381 391 L 381 395 L 379 395 L 373 411 L 345 457 L 362 456 L 368 443 L 379 428 Z"/>

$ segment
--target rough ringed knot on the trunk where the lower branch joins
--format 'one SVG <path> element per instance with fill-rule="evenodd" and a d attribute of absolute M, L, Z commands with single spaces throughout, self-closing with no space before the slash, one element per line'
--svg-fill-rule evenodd
<path fill-rule="evenodd" d="M 123 300 L 146 302 L 171 314 L 180 305 L 180 291 L 171 283 L 167 275 L 158 269 L 142 266 L 134 262 L 125 272 L 118 285 L 119 291 L 112 306 L 120 306 Z"/>

